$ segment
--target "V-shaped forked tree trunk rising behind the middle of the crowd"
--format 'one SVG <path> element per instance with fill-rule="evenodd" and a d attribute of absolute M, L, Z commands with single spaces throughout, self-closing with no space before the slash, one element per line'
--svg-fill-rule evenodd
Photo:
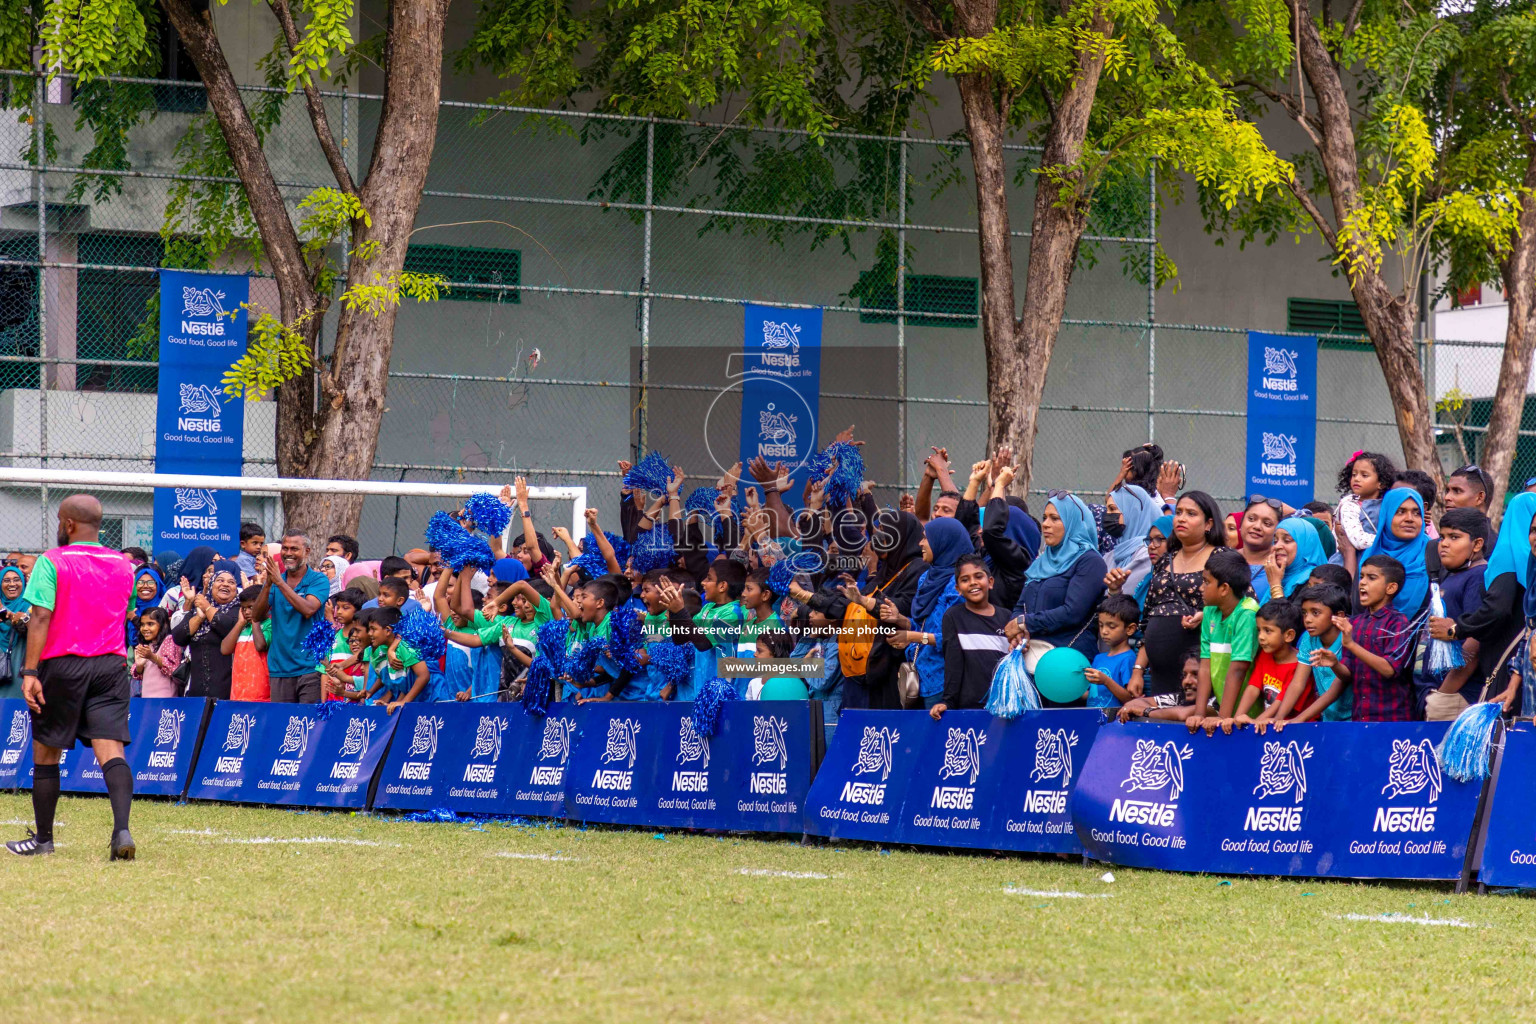
<path fill-rule="evenodd" d="M 1092 31 L 1109 35 L 1112 26 L 1095 18 Z M 1052 111 L 1041 167 L 1068 169 L 1081 160 L 1103 66 L 1101 51 L 1080 54 L 1077 75 Z M 1061 332 L 1061 318 L 1066 315 L 1066 290 L 1077 264 L 1078 244 L 1087 227 L 1089 197 L 1078 192 L 1063 201 L 1061 186 L 1049 183 L 1043 173 L 1037 177 L 1023 315 L 1015 319 L 1008 166 L 1003 150 L 1005 111 L 991 77 L 958 75 L 955 83 L 971 141 L 980 229 L 982 335 L 991 382 L 988 451 L 1001 445 L 1012 448 L 1018 465 L 1012 490 L 1025 496 L 1034 476 L 1040 399 L 1044 395 L 1051 353 Z M 1081 170 L 1064 170 L 1064 175 L 1081 186 Z"/>

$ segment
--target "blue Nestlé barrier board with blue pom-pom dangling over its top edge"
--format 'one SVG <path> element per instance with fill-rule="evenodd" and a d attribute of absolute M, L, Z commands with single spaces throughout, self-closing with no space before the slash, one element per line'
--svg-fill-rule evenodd
<path fill-rule="evenodd" d="M 730 702 L 703 738 L 690 703 L 584 705 L 565 817 L 648 827 L 799 832 L 811 785 L 811 702 Z"/>

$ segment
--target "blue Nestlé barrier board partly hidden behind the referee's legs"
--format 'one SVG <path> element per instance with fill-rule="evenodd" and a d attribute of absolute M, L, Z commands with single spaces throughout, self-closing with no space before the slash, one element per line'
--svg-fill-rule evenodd
<path fill-rule="evenodd" d="M 197 757 L 197 738 L 207 714 L 206 697 L 134 697 L 127 702 L 129 745 L 123 749 L 134 769 L 135 797 L 180 797 Z M 58 761 L 63 792 L 106 792 L 101 765 L 89 746 L 65 751 Z"/>

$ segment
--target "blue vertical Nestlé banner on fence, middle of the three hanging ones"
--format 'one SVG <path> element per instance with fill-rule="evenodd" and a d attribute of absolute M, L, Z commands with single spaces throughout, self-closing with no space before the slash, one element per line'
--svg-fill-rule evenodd
<path fill-rule="evenodd" d="M 794 493 L 816 454 L 822 391 L 822 310 L 745 304 L 742 329 L 742 465 L 783 462 Z M 743 474 L 745 476 L 745 474 Z"/>

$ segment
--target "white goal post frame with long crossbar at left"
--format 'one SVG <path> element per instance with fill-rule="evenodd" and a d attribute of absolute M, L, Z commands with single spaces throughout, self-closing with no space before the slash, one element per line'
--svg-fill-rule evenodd
<path fill-rule="evenodd" d="M 468 497 L 496 493 L 490 484 L 424 484 L 418 481 L 310 481 L 296 476 L 204 476 L 198 473 L 112 473 L 104 470 L 46 470 L 0 467 L 0 485 L 37 484 L 65 490 L 144 491 L 157 487 L 238 490 L 247 494 L 366 494 L 381 497 Z M 587 536 L 585 487 L 528 487 L 528 497 L 571 502 L 571 536 Z M 513 516 L 508 530 L 521 530 Z"/>

